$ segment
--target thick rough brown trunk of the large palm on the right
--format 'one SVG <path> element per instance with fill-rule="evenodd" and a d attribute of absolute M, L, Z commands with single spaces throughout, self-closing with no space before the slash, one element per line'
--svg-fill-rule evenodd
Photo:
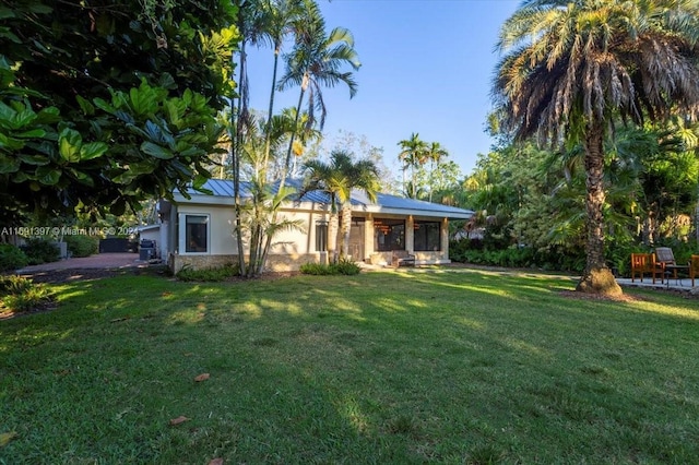
<path fill-rule="evenodd" d="M 590 122 L 585 136 L 585 174 L 588 212 L 585 245 L 587 265 L 576 290 L 606 296 L 623 294 L 604 260 L 604 126 L 600 120 Z"/>

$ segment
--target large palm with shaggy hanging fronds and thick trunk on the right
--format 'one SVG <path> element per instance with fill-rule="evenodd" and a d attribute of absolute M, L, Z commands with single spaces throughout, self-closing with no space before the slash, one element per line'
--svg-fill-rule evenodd
<path fill-rule="evenodd" d="M 577 289 L 620 294 L 604 261 L 603 143 L 617 117 L 695 118 L 699 4 L 683 0 L 526 0 L 500 31 L 493 95 L 518 139 L 581 141 L 587 264 Z"/>

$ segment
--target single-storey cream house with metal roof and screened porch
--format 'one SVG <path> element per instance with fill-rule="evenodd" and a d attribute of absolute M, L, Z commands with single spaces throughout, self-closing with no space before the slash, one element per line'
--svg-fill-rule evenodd
<path fill-rule="evenodd" d="M 300 188 L 298 180 L 287 184 Z M 176 193 L 173 202 L 158 203 L 158 251 L 175 273 L 183 266 L 236 262 L 233 181 L 211 179 L 203 189 L 212 194 L 190 190 L 189 199 Z M 246 194 L 241 192 L 241 196 Z M 329 196 L 321 191 L 308 192 L 284 204 L 280 214 L 300 220 L 304 230 L 285 230 L 274 237 L 268 270 L 292 271 L 304 263 L 325 263 Z M 353 192 L 350 255 L 355 261 L 391 263 L 393 251 L 404 250 L 415 254 L 416 264 L 449 263 L 449 220 L 471 216 L 470 210 L 383 193 L 372 203 L 363 192 Z"/>

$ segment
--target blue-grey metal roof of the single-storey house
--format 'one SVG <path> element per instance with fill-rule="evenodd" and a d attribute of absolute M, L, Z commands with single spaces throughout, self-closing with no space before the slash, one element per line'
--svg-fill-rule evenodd
<path fill-rule="evenodd" d="M 286 184 L 295 188 L 299 191 L 303 187 L 303 180 L 289 179 Z M 275 184 L 274 189 L 279 187 Z M 180 203 L 192 202 L 194 199 L 199 203 L 222 203 L 221 198 L 229 200 L 233 198 L 233 181 L 228 179 L 210 179 L 202 189 L 211 191 L 210 194 L 199 192 L 192 188 L 188 189 L 188 194 L 193 199 L 188 201 L 183 196 L 178 199 Z M 249 198 L 249 184 L 244 182 L 240 184 L 240 195 L 242 198 Z M 310 202 L 318 204 L 330 203 L 330 195 L 325 192 L 317 190 L 306 192 L 300 199 L 295 199 L 296 202 Z M 228 202 L 225 202 L 228 203 Z M 367 213 L 383 213 L 383 214 L 396 214 L 396 215 L 423 215 L 433 217 L 448 217 L 452 219 L 469 219 L 473 216 L 474 212 L 471 210 L 459 208 L 455 206 L 442 205 L 439 203 L 425 202 L 422 200 L 406 199 L 399 195 L 391 195 L 387 193 L 378 193 L 377 201 L 370 202 L 367 195 L 359 190 L 352 192 L 351 203 L 354 211 L 365 211 Z"/>

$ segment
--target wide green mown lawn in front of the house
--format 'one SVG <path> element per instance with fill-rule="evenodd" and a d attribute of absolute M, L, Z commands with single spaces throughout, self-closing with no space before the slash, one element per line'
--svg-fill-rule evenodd
<path fill-rule="evenodd" d="M 573 286 L 475 271 L 55 286 L 58 310 L 0 322 L 0 463 L 697 463 L 697 300 Z"/>

